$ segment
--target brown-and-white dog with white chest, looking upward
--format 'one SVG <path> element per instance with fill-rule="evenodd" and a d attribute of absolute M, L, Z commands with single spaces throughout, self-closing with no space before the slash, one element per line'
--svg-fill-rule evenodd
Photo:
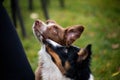
<path fill-rule="evenodd" d="M 39 63 L 35 71 L 35 80 L 71 80 L 63 76 L 60 69 L 52 61 L 52 57 L 46 51 L 47 47 L 44 44 L 44 40 L 51 39 L 60 45 L 70 46 L 80 37 L 84 27 L 75 25 L 68 28 L 62 28 L 53 20 L 47 20 L 46 23 L 41 20 L 36 20 L 32 28 L 34 35 L 41 43 L 41 50 L 38 52 Z"/>

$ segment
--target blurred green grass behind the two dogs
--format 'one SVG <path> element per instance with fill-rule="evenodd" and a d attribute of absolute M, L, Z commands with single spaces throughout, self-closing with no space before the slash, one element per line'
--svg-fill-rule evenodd
<path fill-rule="evenodd" d="M 10 17 L 10 0 L 4 2 Z M 32 33 L 34 12 L 45 21 L 40 1 L 33 0 L 34 10 L 28 10 L 28 0 L 19 0 L 24 19 L 27 38 L 23 39 L 19 21 L 17 32 L 25 49 L 33 71 L 38 63 L 40 44 Z M 63 27 L 81 24 L 85 30 L 74 45 L 84 47 L 92 44 L 91 70 L 95 80 L 120 80 L 120 7 L 119 0 L 65 0 L 65 8 L 59 6 L 58 0 L 49 4 L 50 19 Z"/>

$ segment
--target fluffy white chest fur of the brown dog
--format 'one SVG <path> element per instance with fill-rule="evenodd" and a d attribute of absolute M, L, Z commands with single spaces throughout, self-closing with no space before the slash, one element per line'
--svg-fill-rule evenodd
<path fill-rule="evenodd" d="M 54 64 L 51 56 L 47 53 L 45 46 L 39 51 L 39 64 L 41 65 L 41 76 L 43 80 L 70 80 L 62 75 Z"/>

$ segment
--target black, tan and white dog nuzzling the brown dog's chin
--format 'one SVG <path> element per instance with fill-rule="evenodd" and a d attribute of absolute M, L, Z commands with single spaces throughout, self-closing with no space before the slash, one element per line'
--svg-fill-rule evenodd
<path fill-rule="evenodd" d="M 70 80 L 94 80 L 90 70 L 91 44 L 85 48 L 62 46 L 50 39 L 46 40 L 47 52 L 62 74 Z"/>

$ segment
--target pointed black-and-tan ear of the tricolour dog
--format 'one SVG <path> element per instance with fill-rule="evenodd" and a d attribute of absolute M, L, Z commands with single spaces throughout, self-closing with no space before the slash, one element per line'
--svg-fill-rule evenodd
<path fill-rule="evenodd" d="M 91 44 L 87 45 L 86 48 L 81 48 L 78 52 L 77 62 L 83 61 L 91 56 Z"/>

